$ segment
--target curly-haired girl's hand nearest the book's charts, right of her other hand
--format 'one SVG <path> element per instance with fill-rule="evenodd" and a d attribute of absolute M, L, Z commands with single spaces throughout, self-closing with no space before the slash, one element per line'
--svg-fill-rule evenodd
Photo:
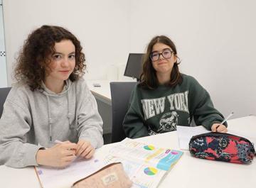
<path fill-rule="evenodd" d="M 95 153 L 95 148 L 92 147 L 89 141 L 79 140 L 78 148 L 75 155 L 85 157 L 85 159 L 89 159 Z"/>

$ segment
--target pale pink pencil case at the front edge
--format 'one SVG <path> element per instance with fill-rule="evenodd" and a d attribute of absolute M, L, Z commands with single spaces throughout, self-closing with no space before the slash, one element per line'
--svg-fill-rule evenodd
<path fill-rule="evenodd" d="M 92 175 L 78 180 L 73 188 L 129 188 L 132 181 L 124 172 L 121 162 L 112 163 L 93 173 Z"/>

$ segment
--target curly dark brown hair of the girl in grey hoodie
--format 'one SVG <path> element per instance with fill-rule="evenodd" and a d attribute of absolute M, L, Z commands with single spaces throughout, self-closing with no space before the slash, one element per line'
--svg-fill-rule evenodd
<path fill-rule="evenodd" d="M 25 40 L 19 52 L 14 77 L 18 82 L 28 84 L 32 91 L 41 89 L 41 83 L 46 77 L 55 43 L 61 40 L 71 40 L 75 45 L 75 68 L 69 79 L 74 82 L 85 74 L 85 54 L 80 41 L 70 31 L 59 26 L 41 26 L 32 31 Z"/>

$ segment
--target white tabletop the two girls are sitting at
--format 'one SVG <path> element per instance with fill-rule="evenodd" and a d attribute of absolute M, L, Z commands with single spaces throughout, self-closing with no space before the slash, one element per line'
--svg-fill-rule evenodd
<path fill-rule="evenodd" d="M 251 141 L 256 143 L 256 116 L 247 116 L 228 121 L 228 128 L 232 131 L 248 134 Z M 156 147 L 178 149 L 176 131 L 156 136 L 147 136 L 137 139 L 140 142 L 154 144 Z M 104 145 L 97 152 L 104 152 L 112 145 Z M 255 158 L 256 160 L 256 158 Z M 202 160 L 191 157 L 188 151 L 170 170 L 159 188 L 178 187 L 225 187 L 249 188 L 256 186 L 256 161 L 250 165 L 233 164 Z M 14 169 L 0 166 L 0 187 L 40 187 L 33 167 Z"/>

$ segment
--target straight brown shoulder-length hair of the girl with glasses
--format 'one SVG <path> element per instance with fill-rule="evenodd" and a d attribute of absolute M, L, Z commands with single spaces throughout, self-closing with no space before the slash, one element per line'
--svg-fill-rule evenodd
<path fill-rule="evenodd" d="M 174 51 L 174 55 L 176 55 L 178 60 L 176 46 L 174 45 L 174 42 L 171 41 L 170 38 L 166 37 L 165 35 L 159 35 L 152 38 L 151 41 L 149 42 L 149 45 L 146 48 L 146 53 L 143 56 L 142 74 L 139 77 L 139 86 L 145 89 L 156 89 L 159 86 L 159 81 L 156 77 L 156 70 L 154 70 L 152 61 L 150 59 L 153 46 L 156 43 L 163 43 L 164 45 L 168 45 L 171 48 L 171 50 Z M 182 82 L 181 73 L 178 70 L 179 64 L 180 62 L 176 61 L 174 63 L 173 69 L 171 70 L 171 80 L 167 84 L 170 87 L 175 87 L 177 84 L 181 84 Z"/>

